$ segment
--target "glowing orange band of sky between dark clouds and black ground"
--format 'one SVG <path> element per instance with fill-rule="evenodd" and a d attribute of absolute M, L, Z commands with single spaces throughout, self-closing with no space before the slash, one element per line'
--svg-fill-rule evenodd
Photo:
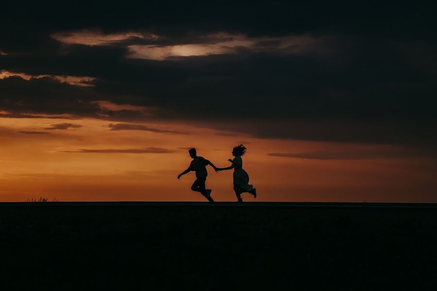
<path fill-rule="evenodd" d="M 72 126 L 53 129 L 64 123 Z M 0 201 L 206 201 L 190 190 L 193 172 L 176 178 L 191 161 L 185 148 L 194 146 L 225 167 L 241 142 L 248 148 L 243 162 L 256 201 L 437 202 L 435 161 L 400 147 L 257 139 L 176 123 L 135 124 L 184 134 L 111 130 L 109 124 L 118 123 L 0 118 Z M 268 155 L 308 152 L 326 157 Z M 384 156 L 390 152 L 400 154 Z M 208 173 L 214 199 L 236 201 L 232 171 L 208 167 Z M 243 199 L 255 201 L 250 194 Z"/>

